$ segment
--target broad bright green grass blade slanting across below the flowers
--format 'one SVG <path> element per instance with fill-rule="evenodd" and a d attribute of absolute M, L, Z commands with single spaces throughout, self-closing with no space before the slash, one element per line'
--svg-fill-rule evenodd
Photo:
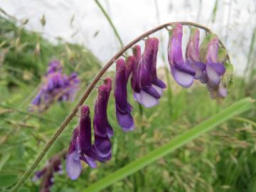
<path fill-rule="evenodd" d="M 153 163 L 157 159 L 160 159 L 166 154 L 171 153 L 171 151 L 174 151 L 175 149 L 178 149 L 179 147 L 187 144 L 188 142 L 191 142 L 191 140 L 198 138 L 203 133 L 210 131 L 211 129 L 217 127 L 219 124 L 225 122 L 226 120 L 242 112 L 252 109 L 252 107 L 252 100 L 248 97 L 238 102 L 235 102 L 235 104 L 227 107 L 222 112 L 215 114 L 213 117 L 210 117 L 210 119 L 207 119 L 201 124 L 198 124 L 196 127 L 193 127 L 192 129 L 189 129 L 183 134 L 178 135 L 167 144 L 164 144 L 159 148 L 154 149 L 154 151 L 149 152 L 149 154 L 146 154 L 145 156 L 142 156 L 141 158 L 132 161 L 121 169 L 114 171 L 114 173 L 105 176 L 105 178 L 102 178 L 100 181 L 93 183 L 92 185 L 87 187 L 84 192 L 100 191 L 103 188 L 106 188 L 107 186 L 110 186 L 113 183 L 121 180 L 122 178 L 134 174 L 134 172 L 143 169 L 144 166 Z"/>

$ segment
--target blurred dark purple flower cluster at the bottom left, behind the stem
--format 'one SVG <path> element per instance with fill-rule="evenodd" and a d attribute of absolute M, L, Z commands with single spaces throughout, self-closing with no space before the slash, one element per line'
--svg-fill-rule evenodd
<path fill-rule="evenodd" d="M 32 181 L 36 182 L 42 178 L 40 192 L 50 192 L 50 186 L 53 186 L 54 174 L 63 174 L 63 167 L 61 164 L 62 156 L 55 155 L 49 161 L 41 171 L 36 171 Z"/>

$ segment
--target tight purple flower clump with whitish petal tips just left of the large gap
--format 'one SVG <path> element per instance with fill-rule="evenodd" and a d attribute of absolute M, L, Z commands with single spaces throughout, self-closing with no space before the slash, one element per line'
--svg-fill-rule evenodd
<path fill-rule="evenodd" d="M 134 48 L 136 64 L 132 70 L 132 89 L 134 90 L 134 99 L 144 107 L 158 105 L 159 98 L 166 87 L 156 75 L 158 45 L 157 38 L 148 38 L 142 56 L 140 47 Z"/>

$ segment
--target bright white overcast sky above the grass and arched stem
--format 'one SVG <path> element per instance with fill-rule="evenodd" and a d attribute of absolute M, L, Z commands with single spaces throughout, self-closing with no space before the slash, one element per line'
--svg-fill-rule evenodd
<path fill-rule="evenodd" d="M 155 0 L 100 2 L 110 14 L 124 44 L 159 24 Z M 246 64 L 252 30 L 255 28 L 255 0 L 218 0 L 214 23 L 215 0 L 202 0 L 201 4 L 199 2 L 200 0 L 158 0 L 160 23 L 193 21 L 208 26 L 225 42 L 237 71 L 242 71 Z M 198 11 L 200 6 L 201 11 Z M 0 7 L 18 19 L 29 18 L 26 27 L 43 32 L 50 41 L 60 36 L 66 41 L 90 48 L 102 62 L 109 60 L 119 50 L 112 28 L 93 0 L 1 0 Z M 46 16 L 44 28 L 40 23 L 43 15 Z M 72 26 L 71 18 L 74 18 Z M 98 35 L 94 37 L 97 31 Z M 72 36 L 74 33 L 75 36 Z M 168 42 L 167 31 L 162 34 L 165 49 Z M 154 36 L 159 36 L 159 33 Z"/>

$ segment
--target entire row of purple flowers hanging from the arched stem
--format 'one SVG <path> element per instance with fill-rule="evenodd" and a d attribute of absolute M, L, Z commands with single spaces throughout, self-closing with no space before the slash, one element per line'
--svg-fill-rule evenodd
<path fill-rule="evenodd" d="M 218 37 L 208 34 L 201 46 L 199 30 L 191 29 L 186 46 L 186 59 L 182 54 L 183 26 L 176 23 L 170 31 L 168 58 L 171 74 L 182 87 L 190 87 L 193 80 L 206 83 L 212 98 L 220 99 L 227 95 L 226 84 L 223 84 L 225 73 L 225 49 L 219 48 Z M 131 82 L 134 100 L 144 107 L 154 107 L 166 88 L 165 83 L 157 77 L 156 58 L 159 47 L 157 38 L 147 38 L 144 52 L 140 46 L 132 48 L 133 55 L 116 61 L 114 80 L 114 99 L 117 122 L 124 132 L 134 129 L 132 105 L 128 102 L 127 83 Z M 73 132 L 70 142 L 66 169 L 71 179 L 76 179 L 82 171 L 81 161 L 92 168 L 95 161 L 105 162 L 111 159 L 111 141 L 113 129 L 107 119 L 107 102 L 112 89 L 112 80 L 106 78 L 98 88 L 93 118 L 94 144 L 91 138 L 91 119 L 88 106 L 80 109 L 80 122 Z"/>

